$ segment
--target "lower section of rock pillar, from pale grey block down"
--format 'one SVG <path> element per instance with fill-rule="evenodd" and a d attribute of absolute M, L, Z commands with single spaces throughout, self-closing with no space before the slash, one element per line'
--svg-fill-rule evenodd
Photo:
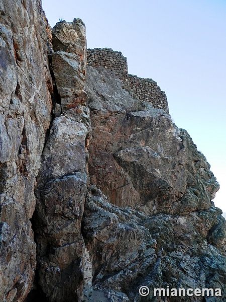
<path fill-rule="evenodd" d="M 37 178 L 37 268 L 49 301 L 77 300 L 84 278 L 81 222 L 88 130 L 75 116 L 71 110 L 54 119 Z"/>

